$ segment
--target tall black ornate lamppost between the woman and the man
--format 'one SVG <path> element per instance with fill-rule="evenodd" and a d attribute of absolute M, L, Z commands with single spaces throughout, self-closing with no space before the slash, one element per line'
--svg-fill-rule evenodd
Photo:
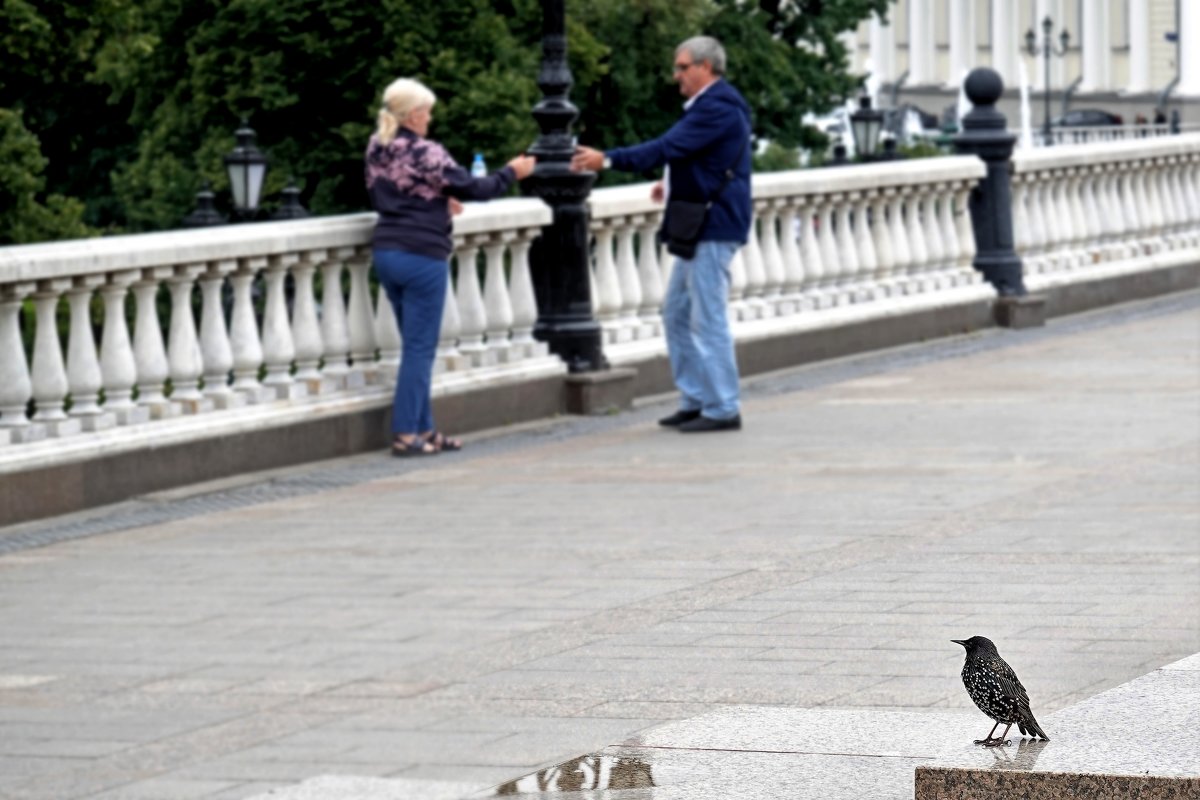
<path fill-rule="evenodd" d="M 533 116 L 541 134 L 529 154 L 538 167 L 524 181 L 526 191 L 540 197 L 554 212 L 529 251 L 529 267 L 538 297 L 535 338 L 550 344 L 570 372 L 606 369 L 600 324 L 592 313 L 588 255 L 587 198 L 595 173 L 571 172 L 575 137 L 571 124 L 578 109 L 569 92 L 574 79 L 566 65 L 566 26 L 563 0 L 542 0 L 542 60 L 538 88 L 542 98 Z"/>

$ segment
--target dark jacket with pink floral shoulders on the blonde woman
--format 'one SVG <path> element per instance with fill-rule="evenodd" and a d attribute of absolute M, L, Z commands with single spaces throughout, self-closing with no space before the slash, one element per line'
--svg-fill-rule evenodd
<path fill-rule="evenodd" d="M 386 145 L 371 137 L 366 179 L 371 205 L 379 213 L 373 247 L 448 260 L 452 249 L 449 198 L 490 200 L 504 194 L 516 175 L 504 167 L 486 178 L 472 178 L 440 144 L 401 128 Z"/>

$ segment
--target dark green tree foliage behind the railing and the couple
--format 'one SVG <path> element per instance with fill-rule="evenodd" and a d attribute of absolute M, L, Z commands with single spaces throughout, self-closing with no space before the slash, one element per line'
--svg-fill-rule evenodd
<path fill-rule="evenodd" d="M 662 133 L 682 98 L 674 46 L 721 38 L 756 134 L 810 142 L 806 110 L 848 95 L 839 34 L 886 0 L 568 0 L 582 142 Z M 0 0 L 0 242 L 173 228 L 247 118 L 316 213 L 361 210 L 383 88 L 438 95 L 432 136 L 497 167 L 538 130 L 540 0 Z M 7 109 L 7 110 L 4 110 Z"/>

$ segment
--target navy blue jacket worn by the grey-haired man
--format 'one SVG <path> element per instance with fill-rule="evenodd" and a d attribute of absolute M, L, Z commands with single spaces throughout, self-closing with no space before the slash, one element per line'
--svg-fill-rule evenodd
<path fill-rule="evenodd" d="M 701 241 L 745 243 L 750 233 L 750 106 L 726 80 L 708 86 L 664 136 L 607 155 L 614 169 L 671 167 L 670 197 L 706 201 L 733 164 L 733 179 L 713 203 Z"/>

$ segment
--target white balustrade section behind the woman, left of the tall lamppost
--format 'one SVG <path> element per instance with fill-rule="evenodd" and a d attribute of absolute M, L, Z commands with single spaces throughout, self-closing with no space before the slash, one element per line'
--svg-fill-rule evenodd
<path fill-rule="evenodd" d="M 528 252 L 550 219 L 527 199 L 455 219 L 439 372 L 547 357 L 532 337 Z M 370 278 L 373 224 L 364 213 L 0 248 L 0 444 L 390 384 L 401 342 Z"/>

